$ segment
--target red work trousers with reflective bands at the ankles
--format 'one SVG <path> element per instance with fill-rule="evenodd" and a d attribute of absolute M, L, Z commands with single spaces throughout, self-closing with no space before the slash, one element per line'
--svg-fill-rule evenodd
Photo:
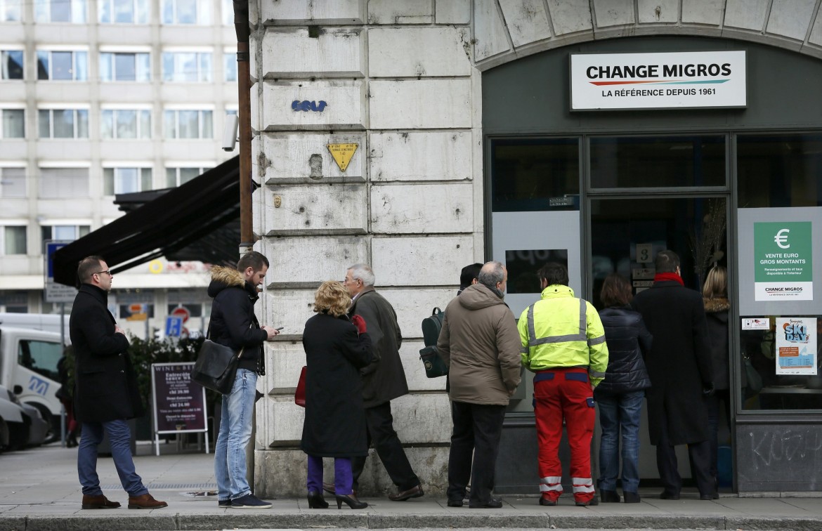
<path fill-rule="evenodd" d="M 570 446 L 570 475 L 575 501 L 593 498 L 591 437 L 596 417 L 588 369 L 556 368 L 533 378 L 534 415 L 539 446 L 539 490 L 547 500 L 562 494 L 559 449 L 565 419 Z"/>

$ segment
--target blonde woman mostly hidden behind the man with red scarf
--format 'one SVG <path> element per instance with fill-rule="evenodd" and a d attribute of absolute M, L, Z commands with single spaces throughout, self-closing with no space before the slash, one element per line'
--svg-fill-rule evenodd
<path fill-rule="evenodd" d="M 705 317 L 708 321 L 709 348 L 713 369 L 713 396 L 708 397 L 708 427 L 711 441 L 711 475 L 717 481 L 719 400 L 725 406 L 725 418 L 731 418 L 731 382 L 728 365 L 727 318 L 731 303 L 727 301 L 727 270 L 714 266 L 702 287 Z"/>

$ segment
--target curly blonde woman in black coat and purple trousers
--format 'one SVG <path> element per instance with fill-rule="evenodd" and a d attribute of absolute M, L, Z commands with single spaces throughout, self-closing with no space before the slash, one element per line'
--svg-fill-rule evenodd
<path fill-rule="evenodd" d="M 352 490 L 351 458 L 367 455 L 363 382 L 359 369 L 372 358 L 362 317 L 346 316 L 351 298 L 343 284 L 329 280 L 316 290 L 313 316 L 302 332 L 306 351 L 306 415 L 300 448 L 308 455 L 308 506 L 326 509 L 322 458 L 334 458 L 337 508 L 368 504 Z"/>

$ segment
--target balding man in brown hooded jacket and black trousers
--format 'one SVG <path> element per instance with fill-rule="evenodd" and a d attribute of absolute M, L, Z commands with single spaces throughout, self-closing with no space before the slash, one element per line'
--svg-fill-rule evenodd
<path fill-rule="evenodd" d="M 436 347 L 448 365 L 454 431 L 448 457 L 448 506 L 461 507 L 471 479 L 469 507 L 499 508 L 491 496 L 502 420 L 520 385 L 520 333 L 503 302 L 508 272 L 490 261 L 446 307 Z M 473 452 L 473 464 L 472 464 Z"/>

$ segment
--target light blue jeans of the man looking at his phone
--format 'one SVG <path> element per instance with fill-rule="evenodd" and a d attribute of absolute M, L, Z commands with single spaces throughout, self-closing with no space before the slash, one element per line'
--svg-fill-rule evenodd
<path fill-rule="evenodd" d="M 219 435 L 214 450 L 217 499 L 236 500 L 252 493 L 246 478 L 246 446 L 252 436 L 256 372 L 237 369 L 231 393 L 223 395 Z"/>

